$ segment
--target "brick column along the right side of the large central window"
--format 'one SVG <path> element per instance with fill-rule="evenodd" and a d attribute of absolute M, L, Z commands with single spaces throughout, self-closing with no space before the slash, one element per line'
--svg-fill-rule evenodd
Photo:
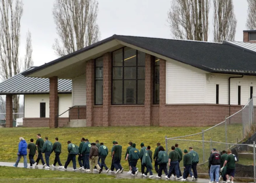
<path fill-rule="evenodd" d="M 154 57 L 145 55 L 145 125 L 152 125 L 151 105 L 153 104 L 153 61 Z"/>

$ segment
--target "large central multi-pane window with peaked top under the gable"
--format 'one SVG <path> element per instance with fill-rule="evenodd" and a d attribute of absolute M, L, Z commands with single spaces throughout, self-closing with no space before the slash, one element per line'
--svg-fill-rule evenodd
<path fill-rule="evenodd" d="M 144 104 L 145 53 L 123 47 L 112 54 L 112 104 Z"/>

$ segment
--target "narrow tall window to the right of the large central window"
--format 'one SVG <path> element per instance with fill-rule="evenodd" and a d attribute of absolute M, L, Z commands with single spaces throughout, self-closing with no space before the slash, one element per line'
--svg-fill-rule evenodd
<path fill-rule="evenodd" d="M 154 61 L 154 104 L 159 104 L 159 61 L 158 57 L 155 57 Z"/>

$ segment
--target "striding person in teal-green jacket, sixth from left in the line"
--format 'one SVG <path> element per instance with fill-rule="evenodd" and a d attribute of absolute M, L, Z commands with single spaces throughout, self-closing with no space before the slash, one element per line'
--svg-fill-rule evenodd
<path fill-rule="evenodd" d="M 79 154 L 79 147 L 75 144 L 72 144 L 71 141 L 68 141 L 68 158 L 64 165 L 64 169 L 66 170 L 70 161 L 73 163 L 73 171 L 76 171 L 76 155 Z"/>

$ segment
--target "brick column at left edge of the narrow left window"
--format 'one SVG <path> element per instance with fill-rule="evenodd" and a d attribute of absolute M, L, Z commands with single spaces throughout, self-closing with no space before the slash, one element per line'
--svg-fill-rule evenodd
<path fill-rule="evenodd" d="M 94 105 L 94 60 L 86 62 L 86 126 L 93 126 Z"/>

